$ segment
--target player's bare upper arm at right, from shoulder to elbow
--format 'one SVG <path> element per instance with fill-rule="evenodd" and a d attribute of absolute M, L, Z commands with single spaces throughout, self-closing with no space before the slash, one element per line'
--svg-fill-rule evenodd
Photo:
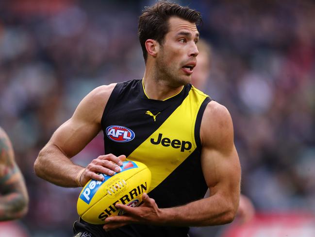
<path fill-rule="evenodd" d="M 201 165 L 210 196 L 219 192 L 233 200 L 238 198 L 241 168 L 233 141 L 232 118 L 225 107 L 216 102 L 208 105 L 200 136 Z"/>

